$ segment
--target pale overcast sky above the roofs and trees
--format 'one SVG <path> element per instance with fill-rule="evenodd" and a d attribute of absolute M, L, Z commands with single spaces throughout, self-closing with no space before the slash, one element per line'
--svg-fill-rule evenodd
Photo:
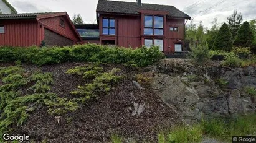
<path fill-rule="evenodd" d="M 116 0 L 115 0 L 116 1 Z M 136 2 L 136 0 L 119 0 Z M 256 18 L 256 0 L 141 0 L 142 3 L 172 5 L 191 17 L 197 24 L 202 21 L 206 27 L 214 17 L 222 23 L 234 9 L 241 12 L 244 20 Z M 19 13 L 67 11 L 70 18 L 81 14 L 86 23 L 92 23 L 96 17 L 98 0 L 9 0 Z"/>

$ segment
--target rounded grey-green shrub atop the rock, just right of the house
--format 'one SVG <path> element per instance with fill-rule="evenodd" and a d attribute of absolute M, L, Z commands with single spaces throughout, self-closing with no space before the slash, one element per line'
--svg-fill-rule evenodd
<path fill-rule="evenodd" d="M 209 52 L 208 46 L 206 45 L 197 45 L 193 46 L 192 51 L 189 52 L 187 56 L 194 63 L 204 63 L 212 58 L 211 53 Z"/>

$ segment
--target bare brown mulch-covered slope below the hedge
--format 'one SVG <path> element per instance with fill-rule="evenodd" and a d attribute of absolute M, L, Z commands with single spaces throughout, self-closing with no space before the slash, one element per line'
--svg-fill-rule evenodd
<path fill-rule="evenodd" d="M 55 84 L 51 92 L 72 98 L 70 92 L 88 81 L 65 74 L 65 71 L 81 64 L 63 63 L 42 67 L 24 64 L 23 67 L 26 71 L 40 69 L 42 72 L 52 72 Z M 113 67 L 121 68 L 126 78 L 99 100 L 62 115 L 59 124 L 54 116 L 47 114 L 46 108 L 41 108 L 16 133 L 28 134 L 34 141 L 45 139 L 49 142 L 109 142 L 111 134 L 118 134 L 126 140 L 156 142 L 159 131 L 179 122 L 178 115 L 164 105 L 149 87 L 146 90 L 135 87 L 132 80 L 139 71 L 115 65 L 103 67 L 105 71 Z M 145 104 L 140 116 L 138 113 L 132 115 L 133 102 Z"/>

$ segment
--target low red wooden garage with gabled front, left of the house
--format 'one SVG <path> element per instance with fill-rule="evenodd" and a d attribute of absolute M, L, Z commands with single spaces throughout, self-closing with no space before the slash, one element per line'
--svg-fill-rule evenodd
<path fill-rule="evenodd" d="M 0 15 L 0 46 L 68 46 L 80 41 L 67 12 Z"/>

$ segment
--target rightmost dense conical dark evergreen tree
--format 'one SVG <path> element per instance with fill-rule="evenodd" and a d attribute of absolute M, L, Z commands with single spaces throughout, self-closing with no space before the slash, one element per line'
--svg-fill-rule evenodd
<path fill-rule="evenodd" d="M 250 28 L 249 22 L 245 21 L 239 28 L 234 46 L 251 47 L 254 40 L 254 34 Z"/>

